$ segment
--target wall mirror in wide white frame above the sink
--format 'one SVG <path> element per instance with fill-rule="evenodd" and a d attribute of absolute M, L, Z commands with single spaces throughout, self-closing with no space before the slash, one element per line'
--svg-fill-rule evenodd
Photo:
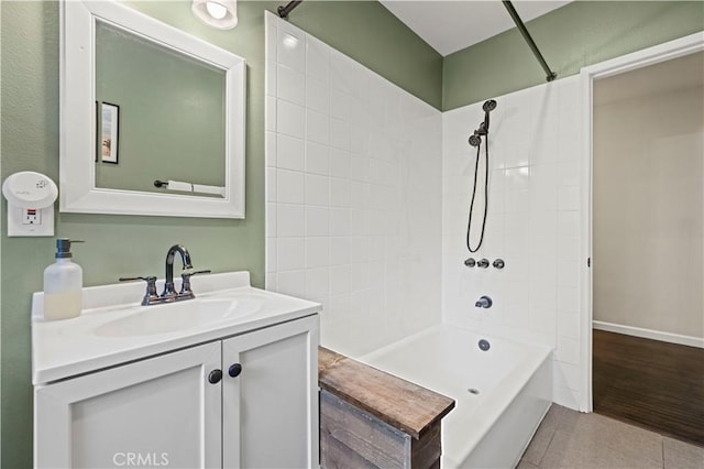
<path fill-rule="evenodd" d="M 59 208 L 244 218 L 244 59 L 116 1 L 62 2 Z"/>

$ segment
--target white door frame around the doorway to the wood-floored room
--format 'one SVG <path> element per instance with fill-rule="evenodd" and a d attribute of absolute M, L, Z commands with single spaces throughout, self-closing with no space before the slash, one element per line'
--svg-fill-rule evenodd
<path fill-rule="evenodd" d="M 697 32 L 663 44 L 612 58 L 600 64 L 583 67 L 580 72 L 581 99 L 584 109 L 582 123 L 583 151 L 581 162 L 581 259 L 583 268 L 580 273 L 580 357 L 581 357 L 581 392 L 580 411 L 593 411 L 592 395 L 592 320 L 593 320 L 593 276 L 587 260 L 592 258 L 592 176 L 593 176 L 593 85 L 594 80 L 654 65 L 660 62 L 704 51 L 704 32 Z"/>

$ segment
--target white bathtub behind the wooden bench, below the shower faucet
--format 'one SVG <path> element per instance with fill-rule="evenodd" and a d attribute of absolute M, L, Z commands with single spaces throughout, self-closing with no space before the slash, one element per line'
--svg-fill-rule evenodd
<path fill-rule="evenodd" d="M 442 467 L 509 468 L 552 402 L 551 357 L 547 347 L 441 325 L 360 361 L 457 401 L 442 421 Z"/>

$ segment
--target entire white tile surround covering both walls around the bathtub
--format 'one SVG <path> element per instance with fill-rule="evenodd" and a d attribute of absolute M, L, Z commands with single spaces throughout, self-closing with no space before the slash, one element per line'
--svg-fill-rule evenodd
<path fill-rule="evenodd" d="M 266 30 L 267 288 L 321 302 L 322 343 L 352 356 L 440 320 L 553 347 L 554 400 L 576 408 L 579 78 L 496 98 L 473 257 L 506 268 L 468 269 L 482 103 L 441 114 L 273 14 Z"/>

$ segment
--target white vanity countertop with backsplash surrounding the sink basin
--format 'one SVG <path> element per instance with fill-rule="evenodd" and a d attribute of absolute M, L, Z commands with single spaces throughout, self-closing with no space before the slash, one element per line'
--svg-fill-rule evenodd
<path fill-rule="evenodd" d="M 163 282 L 161 282 L 163 285 Z M 161 287 L 161 285 L 157 285 Z M 256 298 L 257 309 L 240 317 L 197 328 L 151 335 L 107 337 L 96 334 L 116 320 L 157 312 L 172 305 L 141 306 L 144 282 L 84 288 L 84 309 L 72 319 L 43 319 L 43 293 L 32 298 L 32 382 L 43 384 L 113 367 L 184 347 L 235 336 L 250 330 L 319 313 L 321 306 L 305 299 L 250 286 L 249 272 L 229 272 L 191 279 L 197 299 Z M 178 288 L 178 285 L 177 285 Z M 158 290 L 161 292 L 161 290 Z M 165 317 L 168 312 L 164 309 Z"/>

